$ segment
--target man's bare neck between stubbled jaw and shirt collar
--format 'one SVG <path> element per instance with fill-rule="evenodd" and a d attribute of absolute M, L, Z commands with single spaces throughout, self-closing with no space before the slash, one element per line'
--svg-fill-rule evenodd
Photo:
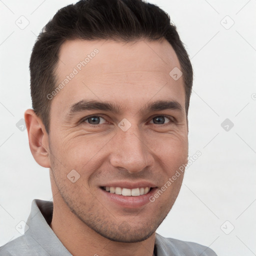
<path fill-rule="evenodd" d="M 50 227 L 73 256 L 153 255 L 155 233 L 141 242 L 111 241 L 96 233 L 72 213 L 57 189 L 54 190 L 52 190 L 53 216 Z"/>

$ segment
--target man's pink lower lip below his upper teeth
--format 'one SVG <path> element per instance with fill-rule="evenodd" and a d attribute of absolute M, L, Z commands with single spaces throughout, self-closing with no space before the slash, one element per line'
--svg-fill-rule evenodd
<path fill-rule="evenodd" d="M 155 193 L 156 189 L 157 187 L 153 187 L 148 193 L 138 196 L 124 196 L 121 194 L 110 193 L 99 188 L 99 190 L 103 193 L 104 198 L 107 198 L 108 200 L 124 208 L 138 208 L 144 206 L 150 202 L 149 197 Z"/>

